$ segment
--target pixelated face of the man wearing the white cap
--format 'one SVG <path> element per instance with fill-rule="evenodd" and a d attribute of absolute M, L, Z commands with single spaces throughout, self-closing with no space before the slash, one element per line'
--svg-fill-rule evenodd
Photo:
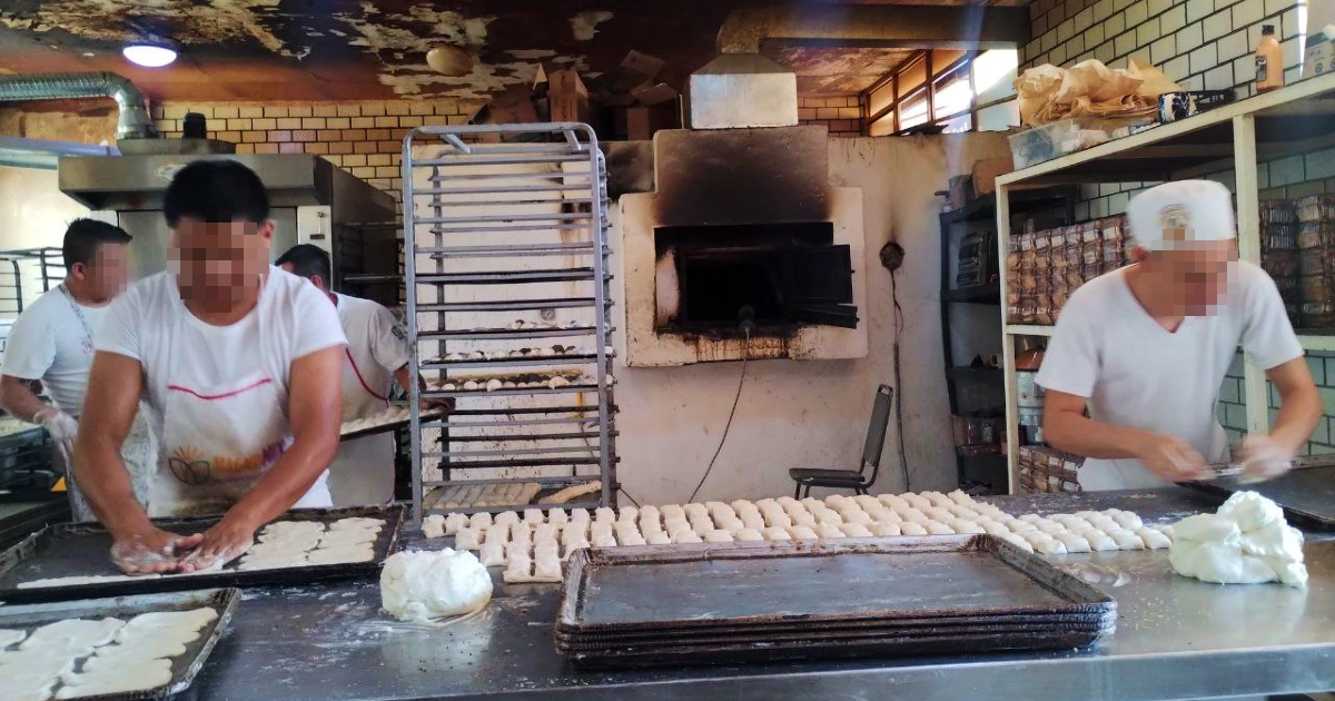
<path fill-rule="evenodd" d="M 1238 262 L 1235 239 L 1192 242 L 1189 248 L 1148 252 L 1139 248 L 1155 300 L 1184 316 L 1208 316 L 1224 303 Z"/>

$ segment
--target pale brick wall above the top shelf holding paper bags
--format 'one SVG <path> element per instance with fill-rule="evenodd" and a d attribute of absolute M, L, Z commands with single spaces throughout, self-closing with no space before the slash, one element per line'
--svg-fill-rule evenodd
<path fill-rule="evenodd" d="M 1252 93 L 1252 51 L 1274 24 L 1288 80 L 1300 75 L 1300 8 L 1310 0 L 1033 0 L 1033 40 L 1021 67 L 1071 67 L 1099 59 L 1113 68 L 1148 60 L 1185 89 Z"/>

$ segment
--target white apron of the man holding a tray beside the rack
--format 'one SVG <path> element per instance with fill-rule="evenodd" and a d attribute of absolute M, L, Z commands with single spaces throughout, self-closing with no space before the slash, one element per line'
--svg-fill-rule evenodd
<path fill-rule="evenodd" d="M 355 340 L 350 338 L 348 342 Z M 371 417 L 388 406 L 388 397 L 367 383 L 352 353 L 343 348 L 343 421 Z M 334 506 L 364 506 L 392 499 L 394 447 L 392 433 L 339 443 L 338 458 L 330 466 Z"/>

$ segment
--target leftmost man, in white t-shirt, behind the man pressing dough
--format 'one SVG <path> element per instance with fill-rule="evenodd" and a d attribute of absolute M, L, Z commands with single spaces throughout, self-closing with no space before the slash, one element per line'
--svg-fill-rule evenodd
<path fill-rule="evenodd" d="M 76 522 L 93 518 L 69 469 L 92 366 L 93 330 L 107 304 L 125 290 L 129 240 L 129 234 L 105 222 L 71 222 L 61 251 L 65 279 L 19 315 L 0 367 L 0 407 L 19 419 L 40 423 L 51 434 Z M 33 382 L 41 382 L 52 403 L 33 394 Z M 120 451 L 140 505 L 148 503 L 148 479 L 158 465 L 148 425 L 143 411 L 134 414 Z"/>

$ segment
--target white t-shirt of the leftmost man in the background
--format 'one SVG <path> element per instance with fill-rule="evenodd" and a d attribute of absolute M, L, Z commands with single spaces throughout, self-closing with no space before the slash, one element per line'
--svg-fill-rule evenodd
<path fill-rule="evenodd" d="M 23 310 L 9 331 L 0 374 L 40 379 L 56 406 L 79 418 L 93 344 L 72 302 L 65 292 L 55 288 Z M 107 307 L 79 304 L 79 312 L 93 331 L 105 311 Z"/>

